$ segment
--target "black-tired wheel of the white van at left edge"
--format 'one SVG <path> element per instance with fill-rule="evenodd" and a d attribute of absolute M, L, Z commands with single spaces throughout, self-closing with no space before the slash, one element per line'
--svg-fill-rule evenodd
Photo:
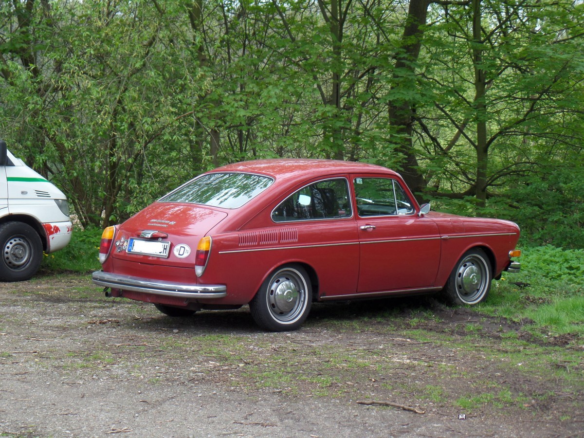
<path fill-rule="evenodd" d="M 33 227 L 22 222 L 6 222 L 0 225 L 1 281 L 28 280 L 43 259 L 43 243 Z"/>

